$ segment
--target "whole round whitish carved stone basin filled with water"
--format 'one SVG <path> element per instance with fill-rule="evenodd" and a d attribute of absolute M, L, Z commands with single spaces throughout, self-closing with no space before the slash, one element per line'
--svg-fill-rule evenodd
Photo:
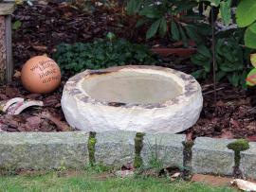
<path fill-rule="evenodd" d="M 202 105 L 192 76 L 145 65 L 86 70 L 66 82 L 62 97 L 67 122 L 82 131 L 184 131 Z"/>

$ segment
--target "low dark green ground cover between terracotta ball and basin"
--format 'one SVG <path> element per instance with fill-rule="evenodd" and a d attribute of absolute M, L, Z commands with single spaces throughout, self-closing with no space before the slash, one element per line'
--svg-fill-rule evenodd
<path fill-rule="evenodd" d="M 157 62 L 146 46 L 114 38 L 114 35 L 109 33 L 108 40 L 99 39 L 87 44 L 60 44 L 53 58 L 63 72 L 71 73 L 78 73 L 85 69 Z"/>

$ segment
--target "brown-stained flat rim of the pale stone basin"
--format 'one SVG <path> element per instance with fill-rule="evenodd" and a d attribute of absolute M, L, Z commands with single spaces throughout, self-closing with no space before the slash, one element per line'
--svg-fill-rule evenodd
<path fill-rule="evenodd" d="M 114 72 L 119 72 L 121 70 L 157 70 L 164 72 L 166 74 L 175 75 L 177 78 L 183 81 L 182 88 L 184 89 L 184 93 L 180 96 L 175 96 L 174 98 L 167 100 L 162 103 L 153 103 L 153 104 L 130 104 L 130 103 L 120 103 L 120 102 L 107 102 L 95 99 L 90 96 L 85 96 L 82 90 L 77 88 L 78 83 L 82 81 L 83 78 L 93 75 L 103 75 Z M 84 72 L 77 74 L 76 76 L 67 80 L 64 85 L 64 92 L 68 95 L 73 96 L 75 99 L 81 101 L 82 103 L 92 103 L 101 106 L 113 106 L 113 107 L 121 107 L 121 108 L 131 108 L 138 107 L 144 109 L 153 109 L 153 108 L 164 108 L 174 104 L 180 104 L 184 101 L 192 100 L 196 93 L 201 92 L 201 88 L 198 82 L 188 74 L 185 74 L 180 71 L 176 71 L 171 68 L 160 67 L 155 65 L 124 65 L 124 66 L 116 66 L 110 67 L 107 69 L 101 70 L 85 70 Z"/>

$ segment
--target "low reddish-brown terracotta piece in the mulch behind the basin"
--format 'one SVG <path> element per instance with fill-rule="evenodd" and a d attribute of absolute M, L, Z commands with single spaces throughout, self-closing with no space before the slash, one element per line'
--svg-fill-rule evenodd
<path fill-rule="evenodd" d="M 167 57 L 170 55 L 176 55 L 180 57 L 191 57 L 196 52 L 196 48 L 152 48 L 154 53 Z"/>

